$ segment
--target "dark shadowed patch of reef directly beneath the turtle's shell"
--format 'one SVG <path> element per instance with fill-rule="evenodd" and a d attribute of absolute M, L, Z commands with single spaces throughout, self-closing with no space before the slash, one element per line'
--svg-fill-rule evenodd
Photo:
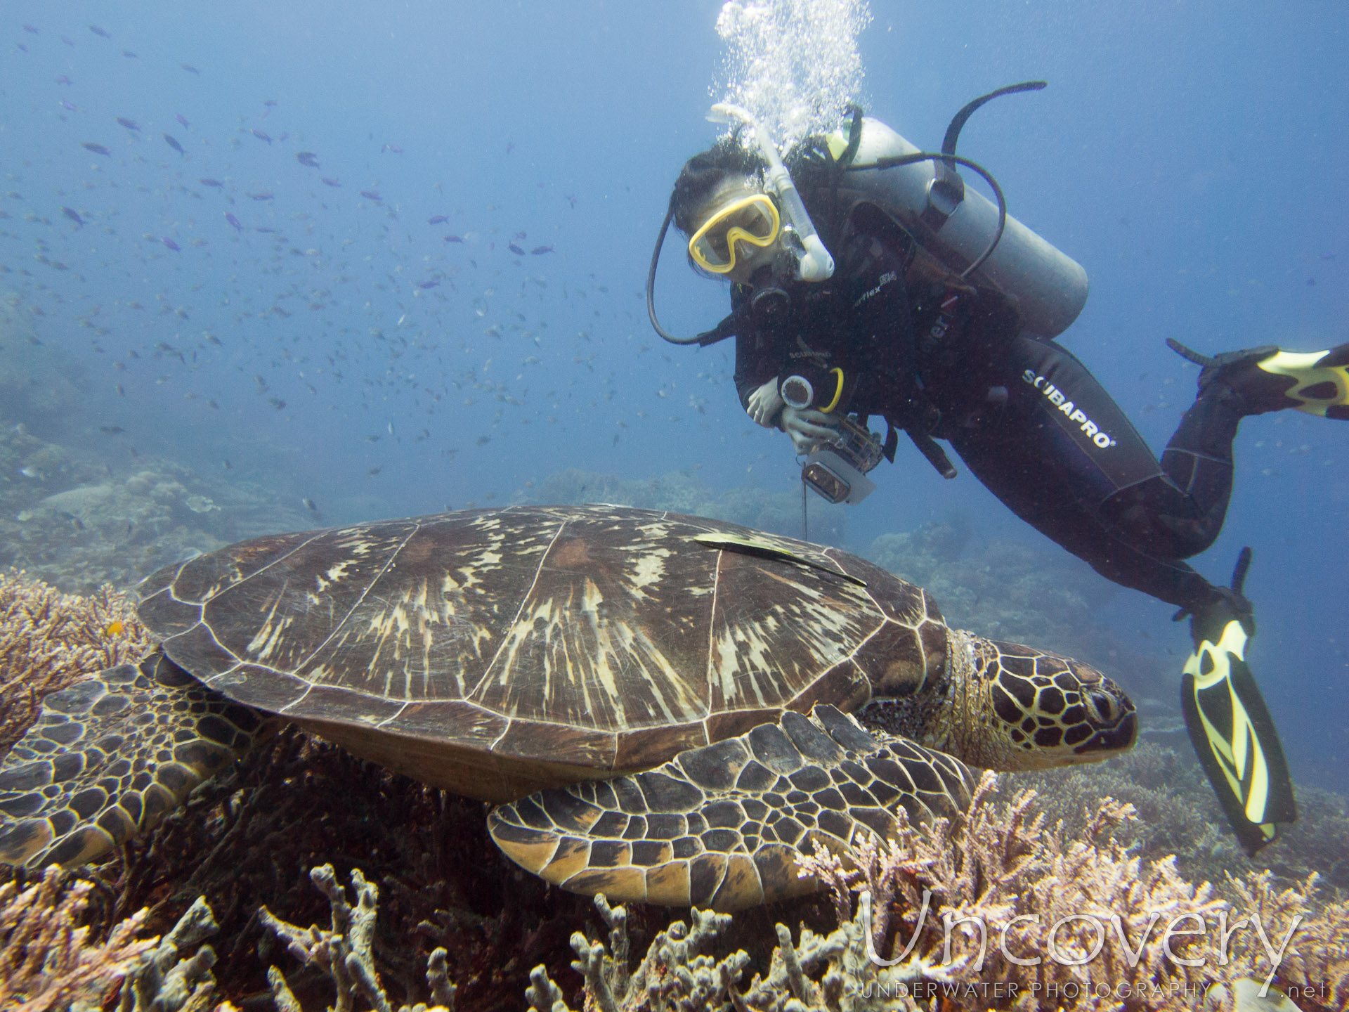
<path fill-rule="evenodd" d="M 220 992 L 250 1007 L 271 993 L 259 954 L 279 951 L 259 908 L 277 922 L 324 923 L 331 897 L 314 889 L 309 869 L 332 864 L 347 877 L 359 866 L 380 893 L 372 966 L 393 1004 L 432 997 L 426 961 L 445 949 L 459 1008 L 515 1009 L 530 966 L 565 969 L 567 938 L 588 903 L 521 872 L 491 842 L 484 815 L 479 802 L 286 730 L 96 868 L 104 889 L 93 923 L 104 931 L 147 907 L 147 927 L 165 931 L 204 896 L 220 923 Z M 321 970 L 283 969 L 304 1008 L 332 1003 Z"/>

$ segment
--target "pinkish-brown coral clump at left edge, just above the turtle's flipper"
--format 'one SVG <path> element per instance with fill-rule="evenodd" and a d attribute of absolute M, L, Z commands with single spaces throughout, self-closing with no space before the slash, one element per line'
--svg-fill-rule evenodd
<path fill-rule="evenodd" d="M 148 648 L 132 602 L 112 587 L 82 598 L 23 572 L 0 573 L 0 754 L 28 730 L 45 696 Z"/>

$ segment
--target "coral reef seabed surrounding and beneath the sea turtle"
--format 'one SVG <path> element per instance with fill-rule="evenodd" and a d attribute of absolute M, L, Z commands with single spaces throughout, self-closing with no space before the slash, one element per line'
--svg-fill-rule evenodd
<path fill-rule="evenodd" d="M 23 432 L 0 433 L 0 551 L 11 559 L 36 559 L 36 572 L 61 587 L 88 587 L 105 573 L 131 579 L 159 564 L 148 557 L 115 559 L 128 551 L 130 536 L 124 536 L 125 524 L 119 533 L 111 518 L 136 509 L 151 510 L 144 515 L 163 517 L 171 525 L 165 528 L 170 530 L 166 552 L 308 521 L 299 515 L 268 521 L 275 503 L 266 497 L 248 493 L 236 502 L 186 468 L 159 461 L 142 460 L 134 472 L 111 475 L 36 440 L 31 452 L 47 456 L 5 457 L 30 439 Z M 42 463 L 40 478 L 4 470 L 28 467 L 23 463 L 28 459 Z M 538 491 L 548 501 L 633 502 L 799 533 L 795 497 L 755 490 L 718 495 L 689 475 L 621 482 L 565 472 Z M 24 510 L 34 515 L 7 519 Z M 822 514 L 823 509 L 812 509 L 812 521 Z M 30 525 L 30 541 L 9 537 L 22 525 Z M 256 530 L 246 529 L 251 526 Z M 112 541 L 96 545 L 98 532 Z M 88 551 L 78 541 L 85 534 Z M 46 537 L 50 545 L 43 544 Z M 935 588 L 958 623 L 1054 642 L 1101 667 L 1109 667 L 1098 660 L 1102 656 L 1116 667 L 1124 663 L 1109 656 L 1117 644 L 1091 625 L 1098 606 L 1093 580 L 1070 568 L 1059 572 L 1020 546 L 971 548 L 969 530 L 958 519 L 880 538 L 877 545 L 873 557 Z M 132 660 L 147 646 L 144 630 L 116 592 L 70 598 L 30 579 L 31 572 L 0 578 L 0 733 L 11 735 L 0 738 L 0 748 L 22 733 L 49 688 Z M 109 634 L 109 629 L 116 631 Z M 1039 793 L 1021 792 L 1025 787 Z M 591 907 L 583 897 L 550 889 L 523 876 L 492 846 L 482 804 L 360 762 L 291 729 L 228 776 L 204 784 L 183 810 L 93 869 L 86 881 L 65 892 L 47 887 L 47 877 L 36 885 L 15 877 L 0 887 L 0 1005 L 28 1012 L 94 1008 L 113 1000 L 117 980 L 125 978 L 121 1003 L 128 1012 L 155 1001 L 167 1008 L 210 1008 L 225 997 L 250 1009 L 275 1001 L 297 1012 L 333 1003 L 340 963 L 352 981 L 374 981 L 371 989 L 345 990 L 348 999 L 360 996 L 362 1007 L 371 1008 L 415 1009 L 417 1003 L 448 1008 L 456 1001 L 459 1008 L 515 1009 L 526 988 L 527 1001 L 549 1012 L 583 1007 L 929 1012 L 934 996 L 944 1012 L 1051 1007 L 1047 1000 L 1017 1005 L 1024 996 L 1008 996 L 1005 986 L 1001 996 L 982 988 L 977 993 L 923 992 L 928 997 L 919 1000 L 913 994 L 919 988 L 1016 980 L 1039 982 L 1044 999 L 1051 985 L 1081 982 L 1072 967 L 997 962 L 996 934 L 981 969 L 975 970 L 978 938 L 959 928 L 947 959 L 939 922 L 942 913 L 1040 913 L 1040 934 L 1008 932 L 1008 949 L 1017 954 L 1048 945 L 1044 926 L 1051 915 L 1090 900 L 1102 913 L 1120 915 L 1130 947 L 1139 940 L 1140 918 L 1147 923 L 1143 912 L 1149 904 L 1172 911 L 1188 904 L 1210 927 L 1224 912 L 1232 923 L 1257 912 L 1275 947 L 1292 918 L 1302 916 L 1275 985 L 1313 988 L 1294 993 L 1303 1012 L 1344 1008 L 1349 1007 L 1349 853 L 1344 843 L 1349 800 L 1303 788 L 1299 802 L 1300 820 L 1251 861 L 1222 828 L 1221 812 L 1188 749 L 1176 753 L 1148 742 L 1101 768 L 1002 777 L 997 791 L 986 789 L 969 819 L 940 824 L 936 835 L 904 831 L 884 845 L 859 841 L 851 865 L 828 864 L 828 855 L 817 854 L 807 865 L 811 870 L 809 861 L 822 862 L 811 873 L 830 882 L 827 895 L 746 911 L 734 920 L 697 911 L 676 918 L 658 908 Z M 1136 815 L 1120 803 L 1129 803 Z M 333 870 L 316 891 L 310 869 L 325 864 Z M 1321 877 L 1313 880 L 1313 872 Z M 355 900 L 337 885 L 339 876 L 352 876 Z M 31 892 L 39 885 L 49 892 Z M 929 892 L 927 934 L 898 963 L 876 966 L 869 949 L 902 953 L 923 909 L 924 888 Z M 376 889 L 382 897 L 378 923 Z M 175 935 L 174 924 L 194 923 L 197 915 L 190 911 L 198 896 L 217 912 L 214 949 L 201 946 L 181 957 L 198 936 Z M 27 907 L 11 912 L 18 901 Z M 359 920 L 366 927 L 356 931 Z M 297 927 L 320 923 L 331 927 Z M 1113 931 L 1108 920 L 1102 923 Z M 1094 945 L 1094 936 L 1079 927 L 1071 924 L 1055 935 L 1060 951 Z M 150 932 L 169 934 L 161 946 L 136 940 L 138 934 Z M 9 942 L 24 938 L 30 942 Z M 38 939 L 36 949 L 32 939 Z M 1148 967 L 1155 962 L 1157 935 L 1151 942 L 1136 966 L 1124 959 L 1121 969 L 1122 954 L 1110 935 L 1099 959 L 1081 973 L 1090 969 L 1093 981 L 1152 984 L 1156 973 L 1148 977 Z M 1184 942 L 1172 939 L 1179 954 Z M 1203 939 L 1194 945 L 1202 947 Z M 301 965 L 289 963 L 283 946 Z M 437 950 L 444 951 L 442 962 L 434 959 Z M 348 966 L 351 957 L 355 969 Z M 428 961 L 444 986 L 428 977 Z M 277 977 L 268 982 L 272 962 L 285 970 L 279 977 L 285 990 Z M 28 976 L 20 977 L 24 966 Z M 35 974 L 32 966 L 50 973 Z M 1159 980 L 1167 986 L 1228 981 L 1230 993 L 1240 994 L 1251 978 L 1263 982 L 1269 966 L 1248 931 L 1236 939 L 1229 966 L 1210 959 L 1193 974 L 1175 972 Z M 55 990 L 58 985 L 66 990 Z M 1112 999 L 1110 1004 L 1081 990 L 1070 997 L 1060 989 L 1052 1007 L 1141 1012 L 1186 1004 L 1176 1004 L 1170 993 L 1172 1004 L 1157 1004 L 1156 994 L 1130 999 L 1132 1004 Z M 47 1004 L 24 1004 L 39 999 Z"/>

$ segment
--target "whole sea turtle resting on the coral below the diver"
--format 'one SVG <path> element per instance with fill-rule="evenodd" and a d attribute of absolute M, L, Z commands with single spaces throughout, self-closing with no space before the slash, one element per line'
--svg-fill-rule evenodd
<path fill-rule="evenodd" d="M 948 629 L 857 556 L 619 506 L 254 538 L 150 576 L 139 614 L 161 646 L 49 696 L 0 766 L 0 861 L 94 858 L 286 719 L 499 803 L 549 881 L 735 909 L 813 888 L 812 839 L 958 812 L 965 762 L 1137 733 L 1099 672 Z"/>

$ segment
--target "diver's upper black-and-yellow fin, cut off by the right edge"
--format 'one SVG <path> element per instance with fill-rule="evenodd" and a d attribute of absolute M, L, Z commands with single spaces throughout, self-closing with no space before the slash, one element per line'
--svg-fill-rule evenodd
<path fill-rule="evenodd" d="M 1292 407 L 1323 418 L 1349 420 L 1349 344 L 1329 351 L 1283 351 L 1267 344 L 1209 356 L 1174 337 L 1167 345 L 1201 367 L 1201 394 L 1230 391 L 1242 414 Z"/>

